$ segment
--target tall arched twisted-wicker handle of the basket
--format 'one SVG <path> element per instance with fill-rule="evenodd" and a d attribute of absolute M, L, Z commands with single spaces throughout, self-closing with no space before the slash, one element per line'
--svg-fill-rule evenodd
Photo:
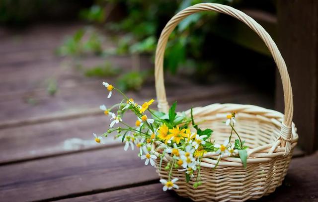
<path fill-rule="evenodd" d="M 163 79 L 163 57 L 164 57 L 164 51 L 165 51 L 165 47 L 166 47 L 169 35 L 183 18 L 187 17 L 188 15 L 191 15 L 192 13 L 205 11 L 205 10 L 217 11 L 220 13 L 228 14 L 244 22 L 248 27 L 250 27 L 254 32 L 258 34 L 258 36 L 265 42 L 267 48 L 272 54 L 274 61 L 278 67 L 278 70 L 282 79 L 282 83 L 283 83 L 285 110 L 284 110 L 284 119 L 282 122 L 282 128 L 281 128 L 280 134 L 282 138 L 281 146 L 286 145 L 285 155 L 288 155 L 290 151 L 290 142 L 292 137 L 291 130 L 292 130 L 294 105 L 293 105 L 292 87 L 291 87 L 285 61 L 282 55 L 280 54 L 275 42 L 270 37 L 270 35 L 265 31 L 265 29 L 262 26 L 260 26 L 251 17 L 249 17 L 245 13 L 231 6 L 218 4 L 218 3 L 198 3 L 193 6 L 187 7 L 184 10 L 181 10 L 176 15 L 174 15 L 169 20 L 169 22 L 165 25 L 165 27 L 163 28 L 160 34 L 160 38 L 159 38 L 157 49 L 156 49 L 156 59 L 155 59 L 155 82 L 156 82 L 156 93 L 157 93 L 159 111 L 167 113 L 169 109 L 166 95 L 165 95 L 164 79 Z"/>

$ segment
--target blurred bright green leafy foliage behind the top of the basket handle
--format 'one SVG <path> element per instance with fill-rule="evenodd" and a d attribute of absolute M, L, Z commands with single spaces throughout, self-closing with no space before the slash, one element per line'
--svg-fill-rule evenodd
<path fill-rule="evenodd" d="M 80 29 L 73 36 L 65 39 L 57 53 L 61 56 L 78 58 L 94 54 L 107 59 L 111 55 L 147 54 L 154 59 L 157 40 L 165 23 L 178 11 L 203 0 L 106 0 L 99 1 L 79 13 L 84 19 L 95 25 L 94 31 Z M 232 0 L 208 0 L 229 4 Z M 107 16 L 116 8 L 125 11 L 125 16 L 117 21 L 107 21 Z M 110 13 L 106 13 L 106 11 Z M 183 21 L 172 32 L 165 51 L 164 67 L 175 74 L 178 68 L 186 66 L 195 69 L 196 75 L 204 75 L 212 68 L 206 62 L 203 49 L 205 38 L 210 34 L 210 27 L 217 18 L 216 12 L 195 13 Z M 209 22 L 209 23 L 207 23 Z M 112 33 L 115 48 L 103 49 L 103 31 Z M 196 68 L 194 68 L 196 67 Z M 115 67 L 110 63 L 96 66 L 85 71 L 86 76 L 114 76 Z M 139 68 L 138 69 L 142 69 Z M 138 90 L 147 78 L 149 71 L 131 71 L 118 78 L 122 90 Z"/>

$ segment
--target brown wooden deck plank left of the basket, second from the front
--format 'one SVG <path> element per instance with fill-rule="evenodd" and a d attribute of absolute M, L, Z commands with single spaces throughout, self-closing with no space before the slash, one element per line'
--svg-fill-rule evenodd
<path fill-rule="evenodd" d="M 158 179 L 137 151 L 87 151 L 0 167 L 1 201 L 37 201 L 118 189 Z"/>

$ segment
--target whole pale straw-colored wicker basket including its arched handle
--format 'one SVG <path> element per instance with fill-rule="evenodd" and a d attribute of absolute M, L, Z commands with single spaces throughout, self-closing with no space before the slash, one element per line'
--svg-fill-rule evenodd
<path fill-rule="evenodd" d="M 217 168 L 213 169 L 217 163 L 217 154 L 208 152 L 201 162 L 203 184 L 194 189 L 195 178 L 187 183 L 184 171 L 174 169 L 172 178 L 179 179 L 177 181 L 179 189 L 175 191 L 178 195 L 197 202 L 255 200 L 274 192 L 276 187 L 282 184 L 293 148 L 298 140 L 296 128 L 292 123 L 293 95 L 286 64 L 272 38 L 255 20 L 235 8 L 217 3 L 199 3 L 173 16 L 161 32 L 156 51 L 155 77 L 158 108 L 165 113 L 168 111 L 163 81 L 163 56 L 168 37 L 183 18 L 192 13 L 206 10 L 225 13 L 239 19 L 265 42 L 281 75 L 285 97 L 285 116 L 280 112 L 253 105 L 212 104 L 193 108 L 195 121 L 197 123 L 204 121 L 200 128 L 214 130 L 212 140 L 216 140 L 217 143 L 222 143 L 226 138 L 229 138 L 231 133 L 231 128 L 222 123 L 224 118 L 220 118 L 219 115 L 237 112 L 238 118 L 235 128 L 248 146 L 247 167 L 243 168 L 239 158 L 225 157 L 221 159 Z M 186 114 L 190 116 L 190 110 L 187 110 Z M 166 154 L 161 168 L 166 166 L 169 159 L 171 157 Z M 156 167 L 160 178 L 167 179 L 168 171 L 159 170 L 159 158 Z"/>

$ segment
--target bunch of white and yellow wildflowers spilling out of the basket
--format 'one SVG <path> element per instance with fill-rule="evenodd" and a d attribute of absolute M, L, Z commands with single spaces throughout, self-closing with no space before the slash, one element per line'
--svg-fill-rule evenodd
<path fill-rule="evenodd" d="M 116 132 L 116 138 L 125 142 L 124 150 L 129 147 L 134 150 L 135 145 L 139 149 L 138 155 L 141 160 L 145 160 L 145 165 L 157 166 L 159 169 L 169 171 L 168 179 L 161 179 L 163 190 L 172 188 L 178 189 L 176 185 L 177 178 L 171 179 L 172 169 L 184 171 L 187 182 L 191 178 L 195 179 L 193 184 L 197 188 L 202 184 L 200 177 L 200 163 L 207 154 L 214 152 L 216 154 L 217 167 L 223 157 L 239 157 L 244 167 L 246 167 L 247 152 L 244 141 L 234 128 L 236 124 L 236 113 L 226 115 L 225 124 L 231 127 L 229 138 L 223 144 L 212 141 L 212 129 L 200 129 L 195 123 L 192 115 L 186 116 L 183 113 L 176 113 L 176 102 L 173 103 L 167 114 L 151 109 L 154 100 L 151 99 L 142 105 L 138 105 L 132 98 L 128 98 L 123 92 L 111 84 L 103 82 L 103 85 L 109 91 L 108 98 L 112 91 L 116 90 L 123 96 L 119 104 L 110 108 L 101 105 L 100 109 L 105 115 L 110 116 L 112 120 L 109 129 L 103 135 L 93 134 L 97 143 L 103 143 L 103 138 L 110 133 Z M 123 117 L 126 112 L 133 112 L 136 115 L 135 126 L 128 125 Z M 116 113 L 115 113 L 116 112 Z M 117 124 L 121 124 L 117 126 Z M 236 135 L 234 143 L 231 138 Z M 168 161 L 164 168 L 161 168 L 162 160 Z"/>

